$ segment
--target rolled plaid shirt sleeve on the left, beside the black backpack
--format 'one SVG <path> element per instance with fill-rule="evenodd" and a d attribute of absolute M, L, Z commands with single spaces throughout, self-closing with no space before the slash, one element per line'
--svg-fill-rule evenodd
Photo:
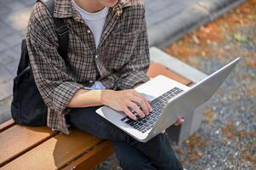
<path fill-rule="evenodd" d="M 58 38 L 53 34 L 54 27 L 46 23 L 51 20 L 51 16 L 38 5 L 32 10 L 26 34 L 31 69 L 48 108 L 64 112 L 73 95 L 83 86 L 75 82 L 64 59 L 58 54 Z"/>

